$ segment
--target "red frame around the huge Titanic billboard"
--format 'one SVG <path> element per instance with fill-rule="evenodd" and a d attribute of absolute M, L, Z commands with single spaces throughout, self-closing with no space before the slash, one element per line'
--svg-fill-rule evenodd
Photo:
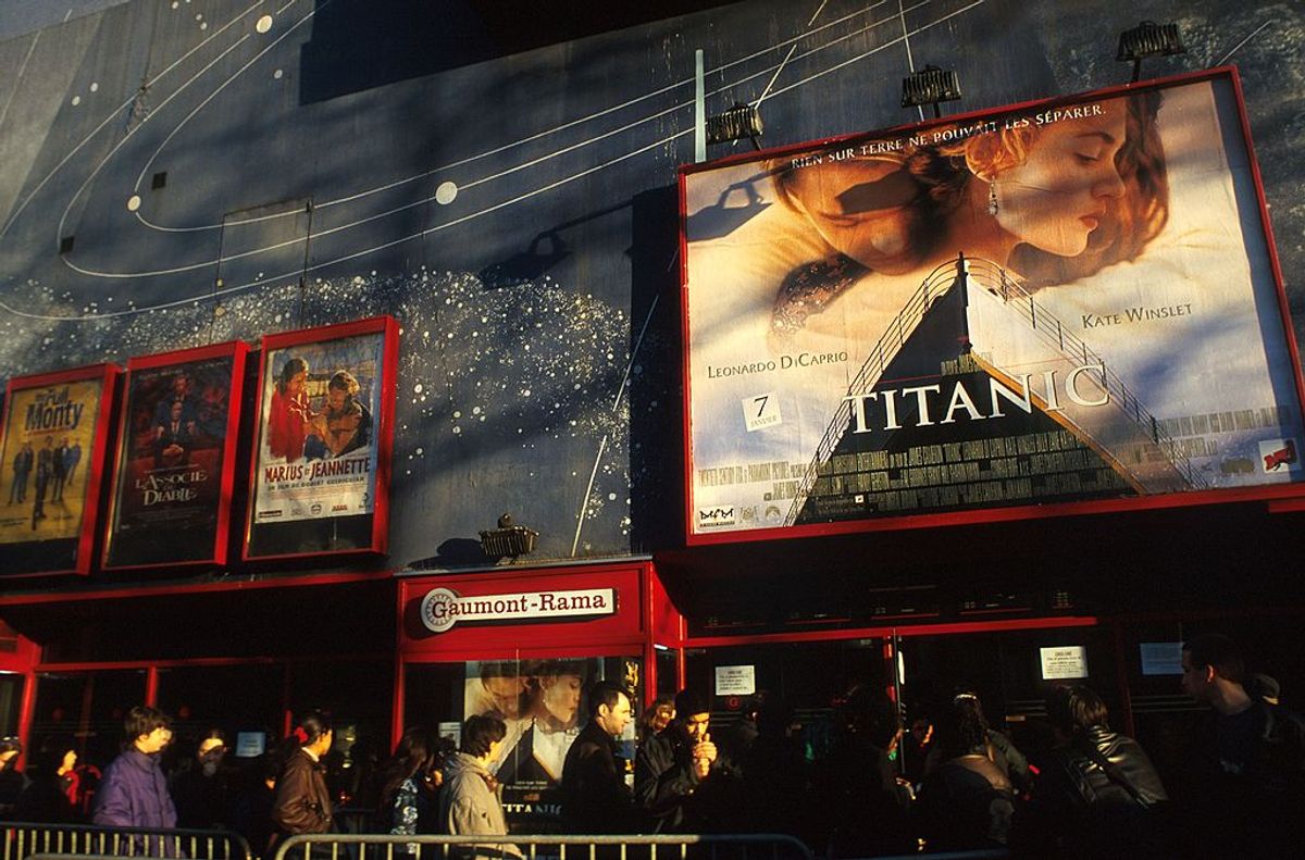
<path fill-rule="evenodd" d="M 1169 492 L 1154 496 L 1138 496 L 1129 499 L 1062 501 L 1051 504 L 1026 502 L 1005 508 L 980 508 L 980 509 L 967 509 L 959 512 L 954 510 L 954 512 L 921 513 L 921 514 L 885 514 L 880 517 L 847 519 L 839 522 L 806 523 L 806 525 L 792 525 L 792 526 L 737 530 L 737 531 L 718 531 L 718 532 L 701 532 L 701 534 L 694 532 L 696 505 L 694 505 L 694 461 L 693 461 L 693 408 L 692 408 L 692 380 L 690 380 L 692 365 L 689 356 L 690 351 L 689 290 L 688 290 L 689 264 L 688 264 L 688 239 L 686 239 L 686 221 L 689 214 L 688 191 L 686 191 L 688 176 L 697 172 L 715 170 L 729 164 L 757 162 L 763 158 L 780 158 L 795 153 L 804 153 L 816 149 L 837 146 L 846 141 L 867 138 L 870 136 L 886 137 L 891 134 L 900 136 L 907 132 L 919 133 L 940 125 L 950 125 L 955 123 L 979 120 L 989 116 L 1011 114 L 1014 111 L 1028 111 L 1034 108 L 1054 110 L 1060 106 L 1081 103 L 1087 99 L 1094 99 L 1094 98 L 1104 99 L 1109 97 L 1118 97 L 1139 89 L 1164 89 L 1199 81 L 1219 81 L 1219 80 L 1227 81 L 1231 85 L 1233 93 L 1237 121 L 1241 128 L 1241 141 L 1245 146 L 1248 163 L 1250 167 L 1251 184 L 1254 187 L 1254 193 L 1255 193 L 1255 201 L 1259 207 L 1262 238 L 1265 240 L 1270 273 L 1274 281 L 1274 288 L 1276 291 L 1279 317 L 1283 328 L 1287 352 L 1291 359 L 1291 367 L 1296 390 L 1296 403 L 1295 403 L 1296 415 L 1301 416 L 1302 412 L 1305 412 L 1305 378 L 1302 378 L 1301 376 L 1300 351 L 1296 342 L 1295 330 L 1291 322 L 1291 311 L 1284 290 L 1282 265 L 1278 257 L 1278 248 L 1274 241 L 1272 224 L 1268 218 L 1268 206 L 1265 198 L 1265 188 L 1261 176 L 1259 163 L 1258 159 L 1255 158 L 1254 144 L 1250 136 L 1250 121 L 1246 115 L 1246 106 L 1241 87 L 1241 78 L 1237 73 L 1236 67 L 1218 67 L 1202 72 L 1177 74 L 1163 78 L 1155 78 L 1150 81 L 1141 81 L 1134 84 L 1105 87 L 1100 90 L 1092 90 L 1090 93 L 1077 93 L 1071 95 L 1054 97 L 1048 99 L 1035 99 L 1015 104 L 1006 104 L 997 108 L 983 108 L 936 120 L 928 120 L 924 123 L 908 123 L 873 132 L 856 132 L 850 134 L 820 138 L 814 141 L 805 141 L 788 146 L 763 150 L 760 153 L 743 153 L 716 159 L 713 162 L 703 162 L 698 164 L 681 164 L 680 168 L 677 170 L 677 189 L 679 189 L 679 209 L 680 209 L 679 256 L 680 256 L 680 324 L 681 324 L 681 338 L 683 338 L 681 378 L 683 378 L 683 392 L 684 392 L 683 444 L 684 444 L 685 496 L 684 496 L 683 522 L 685 527 L 686 545 L 693 547 L 693 545 L 710 545 L 710 544 L 729 544 L 729 543 L 745 543 L 753 540 L 775 540 L 775 539 L 788 539 L 788 538 L 808 538 L 808 536 L 891 531 L 891 530 L 906 530 L 906 529 L 933 529 L 933 527 L 945 527 L 945 526 L 968 525 L 968 523 L 1037 519 L 1043 517 L 1066 517 L 1078 514 L 1146 510 L 1158 508 L 1182 508 L 1182 506 L 1208 505 L 1208 504 L 1233 504 L 1233 502 L 1246 502 L 1246 501 L 1265 501 L 1278 505 L 1282 504 L 1291 505 L 1293 500 L 1305 499 L 1305 484 L 1295 483 L 1295 484 L 1275 484 L 1275 485 L 1259 485 L 1259 487 L 1246 487 L 1246 488 L 1197 489 L 1188 492 Z M 1300 504 L 1305 504 L 1305 501 Z"/>

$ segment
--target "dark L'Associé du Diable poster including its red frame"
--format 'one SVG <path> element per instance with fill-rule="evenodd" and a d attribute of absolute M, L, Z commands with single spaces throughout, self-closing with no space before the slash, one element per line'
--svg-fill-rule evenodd
<path fill-rule="evenodd" d="M 106 568 L 221 561 L 243 355 L 129 368 Z"/>

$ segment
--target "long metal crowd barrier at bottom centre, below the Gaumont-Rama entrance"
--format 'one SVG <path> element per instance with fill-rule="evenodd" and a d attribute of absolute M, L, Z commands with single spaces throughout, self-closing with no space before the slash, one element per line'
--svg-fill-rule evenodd
<path fill-rule="evenodd" d="M 782 834 L 544 837 L 291 837 L 270 860 L 814 860 Z"/>

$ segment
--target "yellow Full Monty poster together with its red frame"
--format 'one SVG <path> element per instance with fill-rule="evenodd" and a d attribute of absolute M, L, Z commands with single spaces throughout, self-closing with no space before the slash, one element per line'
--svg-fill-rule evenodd
<path fill-rule="evenodd" d="M 0 576 L 90 573 L 116 364 L 9 380 Z"/>

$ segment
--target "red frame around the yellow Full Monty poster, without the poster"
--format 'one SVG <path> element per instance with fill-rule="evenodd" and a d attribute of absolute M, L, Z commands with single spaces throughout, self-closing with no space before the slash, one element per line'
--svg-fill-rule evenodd
<path fill-rule="evenodd" d="M 99 508 L 100 508 L 100 489 L 104 478 L 103 463 L 108 448 L 110 428 L 112 425 L 112 412 L 116 407 L 116 398 L 114 397 L 116 392 L 117 377 L 121 373 L 121 368 L 116 364 L 90 364 L 86 367 L 70 368 L 67 371 L 54 371 L 50 373 L 37 373 L 33 376 L 20 376 L 9 380 L 5 386 L 4 398 L 4 415 L 0 418 L 0 431 L 4 436 L 9 432 L 9 414 L 13 410 L 13 395 L 17 392 L 22 392 L 31 388 L 44 388 L 47 385 L 59 385 L 63 382 L 85 382 L 87 380 L 99 380 L 99 412 L 95 416 L 95 425 L 93 428 L 94 436 L 91 437 L 90 450 L 86 454 L 85 467 L 86 467 L 86 499 L 82 505 L 82 522 L 81 530 L 76 538 L 69 538 L 76 540 L 76 562 L 72 568 L 60 568 L 50 570 L 30 570 L 23 573 L 5 573 L 4 579 L 9 578 L 26 578 L 26 577 L 52 577 L 61 574 L 76 574 L 76 576 L 89 576 L 91 570 L 91 551 L 95 544 L 95 536 L 99 534 Z M 4 450 L 4 444 L 0 442 L 0 450 Z"/>

